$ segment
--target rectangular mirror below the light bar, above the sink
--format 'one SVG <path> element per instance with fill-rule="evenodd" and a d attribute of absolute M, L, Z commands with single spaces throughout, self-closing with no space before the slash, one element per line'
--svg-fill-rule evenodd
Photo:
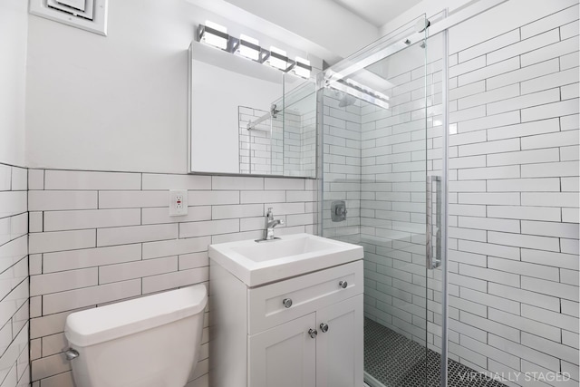
<path fill-rule="evenodd" d="M 192 42 L 189 172 L 315 178 L 315 76 Z"/>

